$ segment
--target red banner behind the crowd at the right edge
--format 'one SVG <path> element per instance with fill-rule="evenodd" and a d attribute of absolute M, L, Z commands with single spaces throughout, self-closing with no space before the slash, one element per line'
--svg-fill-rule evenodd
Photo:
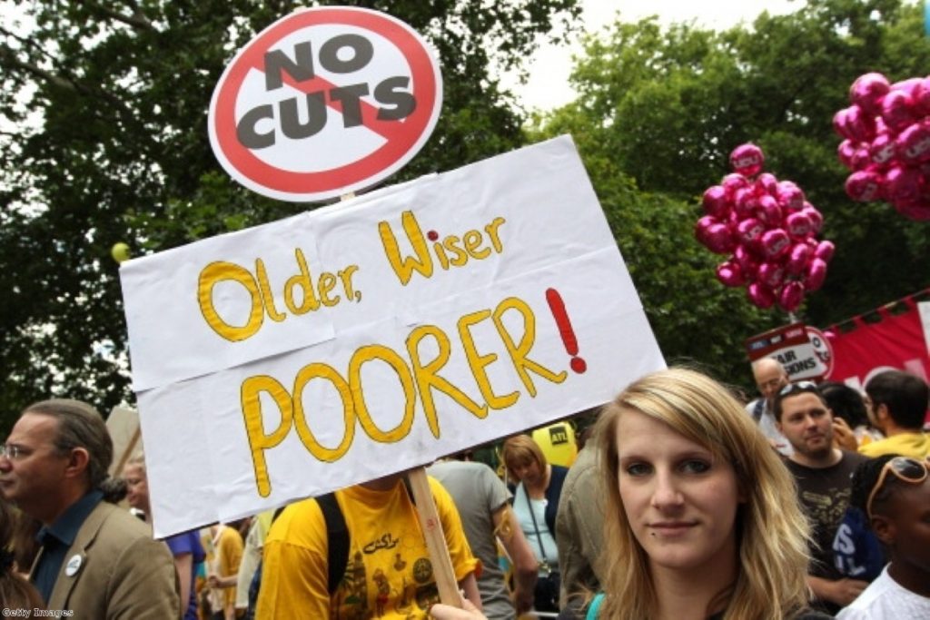
<path fill-rule="evenodd" d="M 926 380 L 930 376 L 930 301 L 926 299 L 930 289 L 830 325 L 824 330 L 833 350 L 827 378 L 859 390 L 888 369 Z"/>

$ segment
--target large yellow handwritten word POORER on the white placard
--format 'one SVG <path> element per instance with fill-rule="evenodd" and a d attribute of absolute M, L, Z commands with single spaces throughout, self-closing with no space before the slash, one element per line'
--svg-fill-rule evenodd
<path fill-rule="evenodd" d="M 512 334 L 504 324 L 504 316 L 512 312 L 523 320 L 522 332 L 516 335 Z M 413 428 L 418 400 L 433 437 L 438 439 L 441 431 L 433 399 L 435 392 L 445 394 L 478 419 L 487 417 L 489 409 L 501 410 L 511 407 L 519 400 L 521 392 L 498 394 L 495 391 L 487 368 L 498 362 L 498 354 L 479 350 L 472 336 L 472 328 L 488 321 L 500 336 L 503 349 L 506 350 L 513 369 L 520 377 L 530 397 L 535 397 L 537 394 L 534 376 L 555 384 L 565 381 L 567 376 L 565 371 L 553 372 L 529 358 L 530 350 L 536 340 L 536 316 L 529 304 L 516 297 L 504 299 L 493 310 L 471 312 L 458 319 L 458 341 L 482 401 L 475 401 L 463 389 L 440 375 L 440 371 L 452 354 L 452 340 L 444 330 L 436 325 L 418 325 L 411 330 L 406 338 L 406 357 L 390 347 L 377 344 L 355 350 L 345 376 L 326 363 L 313 362 L 299 370 L 294 379 L 294 387 L 290 391 L 272 376 L 259 375 L 246 378 L 241 387 L 240 398 L 259 495 L 267 497 L 272 492 L 272 481 L 265 453 L 284 442 L 291 429 L 297 430 L 301 444 L 310 455 L 317 460 L 332 463 L 338 461 L 352 447 L 356 427 L 361 427 L 374 442 L 403 441 Z M 508 323 L 513 329 L 516 321 Z M 432 359 L 424 360 L 420 345 L 427 339 L 433 341 L 435 344 L 433 349 L 438 352 Z M 367 363 L 387 364 L 396 374 L 398 384 L 403 391 L 404 415 L 392 429 L 379 428 L 369 411 L 370 403 L 365 400 L 365 386 L 362 379 L 362 368 Z M 328 382 L 339 394 L 342 404 L 343 431 L 341 441 L 334 447 L 327 447 L 317 441 L 310 428 L 315 412 L 304 409 L 303 390 L 313 380 Z M 271 398 L 277 410 L 269 417 L 272 420 L 280 418 L 277 427 L 270 433 L 265 432 L 265 416 L 261 399 L 263 393 Z"/>

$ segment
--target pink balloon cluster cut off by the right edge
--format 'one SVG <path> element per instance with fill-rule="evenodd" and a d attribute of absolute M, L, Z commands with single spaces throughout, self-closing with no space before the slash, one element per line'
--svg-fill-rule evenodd
<path fill-rule="evenodd" d="M 902 216 L 930 219 L 930 77 L 889 84 L 881 73 L 860 75 L 852 105 L 836 112 L 844 138 L 838 154 L 852 174 L 846 193 L 856 201 L 884 200 Z"/>

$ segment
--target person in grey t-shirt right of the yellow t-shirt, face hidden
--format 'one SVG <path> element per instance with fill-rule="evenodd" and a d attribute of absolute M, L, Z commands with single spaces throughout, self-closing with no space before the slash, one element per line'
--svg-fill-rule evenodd
<path fill-rule="evenodd" d="M 478 590 L 485 615 L 510 620 L 533 607 L 537 562 L 510 505 L 512 497 L 494 470 L 484 463 L 443 459 L 426 469 L 452 495 L 472 553 L 481 561 Z M 513 566 L 513 596 L 498 565 L 500 540 Z"/>

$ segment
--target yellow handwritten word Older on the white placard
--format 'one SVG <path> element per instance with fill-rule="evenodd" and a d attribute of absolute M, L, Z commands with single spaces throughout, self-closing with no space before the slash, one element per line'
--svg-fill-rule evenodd
<path fill-rule="evenodd" d="M 361 291 L 355 290 L 352 285 L 352 276 L 358 271 L 358 266 L 349 265 L 335 274 L 323 271 L 314 281 L 307 259 L 300 248 L 294 250 L 294 257 L 298 272 L 287 278 L 284 283 L 284 309 L 274 305 L 272 283 L 261 258 L 255 259 L 254 274 L 233 262 L 216 261 L 207 265 L 200 271 L 197 281 L 197 303 L 206 324 L 219 336 L 237 342 L 255 336 L 265 316 L 275 323 L 284 321 L 287 318 L 285 309 L 299 316 L 319 310 L 321 305 L 326 308 L 336 306 L 343 296 L 350 302 L 362 300 Z M 217 284 L 224 282 L 239 284 L 246 290 L 251 300 L 246 323 L 231 323 L 232 319 L 220 316 L 214 305 L 213 289 Z"/>

